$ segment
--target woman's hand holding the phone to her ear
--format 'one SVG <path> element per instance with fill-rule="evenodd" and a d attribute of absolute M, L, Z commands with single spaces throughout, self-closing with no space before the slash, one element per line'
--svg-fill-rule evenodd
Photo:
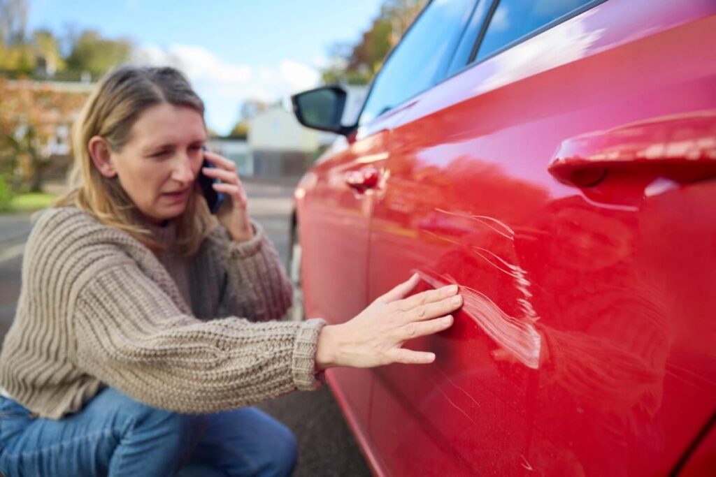
<path fill-rule="evenodd" d="M 202 172 L 207 177 L 221 180 L 221 184 L 214 184 L 213 187 L 216 192 L 222 192 L 225 199 L 216 212 L 216 218 L 236 242 L 251 239 L 253 227 L 248 217 L 248 198 L 236 173 L 236 164 L 213 152 L 204 152 L 204 157 L 216 167 L 203 167 Z"/>

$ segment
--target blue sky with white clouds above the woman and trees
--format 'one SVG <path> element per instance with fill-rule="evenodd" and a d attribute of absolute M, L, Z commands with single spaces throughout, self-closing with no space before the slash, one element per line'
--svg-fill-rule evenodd
<path fill-rule="evenodd" d="M 227 133 L 246 98 L 266 101 L 316 86 L 329 46 L 353 43 L 382 0 L 29 0 L 28 28 L 94 28 L 137 44 L 137 62 L 173 64 Z"/>

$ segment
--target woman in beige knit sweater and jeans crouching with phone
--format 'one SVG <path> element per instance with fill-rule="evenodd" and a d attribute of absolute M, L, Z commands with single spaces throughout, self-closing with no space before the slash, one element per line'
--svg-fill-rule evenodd
<path fill-rule="evenodd" d="M 407 297 L 416 276 L 344 324 L 274 321 L 289 281 L 233 164 L 203 152 L 203 112 L 170 68 L 117 69 L 89 97 L 74 187 L 33 227 L 0 355 L 6 476 L 288 475 L 290 431 L 246 406 L 332 366 L 435 359 L 401 345 L 448 328 L 461 297 Z M 229 198 L 216 217 L 204 158 Z"/>

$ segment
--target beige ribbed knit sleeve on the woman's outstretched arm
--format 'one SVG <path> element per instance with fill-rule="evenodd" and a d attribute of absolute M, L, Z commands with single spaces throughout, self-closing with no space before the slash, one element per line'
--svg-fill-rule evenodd
<path fill-rule="evenodd" d="M 258 250 L 247 255 L 241 259 L 258 260 Z M 324 324 L 251 323 L 233 316 L 200 321 L 182 313 L 128 259 L 99 272 L 79 292 L 75 359 L 85 373 L 144 403 L 213 412 L 318 386 L 314 356 Z"/>

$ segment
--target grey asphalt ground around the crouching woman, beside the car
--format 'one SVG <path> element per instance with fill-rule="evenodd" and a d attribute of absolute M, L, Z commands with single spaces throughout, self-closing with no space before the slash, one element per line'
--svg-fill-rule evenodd
<path fill-rule="evenodd" d="M 249 212 L 274 242 L 281 260 L 289 253 L 291 192 L 295 181 L 245 180 Z M 32 228 L 29 215 L 0 215 L 0 339 L 14 318 L 20 293 L 22 250 Z M 258 404 L 291 428 L 299 441 L 294 476 L 370 476 L 358 446 L 327 386 Z"/>

